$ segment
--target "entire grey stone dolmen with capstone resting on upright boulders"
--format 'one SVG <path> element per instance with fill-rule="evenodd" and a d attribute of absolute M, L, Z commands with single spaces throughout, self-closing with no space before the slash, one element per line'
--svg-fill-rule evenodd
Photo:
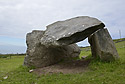
<path fill-rule="evenodd" d="M 45 31 L 33 30 L 26 35 L 27 52 L 24 65 L 45 67 L 63 59 L 79 57 L 76 44 L 88 37 L 94 58 L 113 61 L 119 58 L 115 45 L 105 25 L 100 20 L 80 16 L 57 21 Z"/>

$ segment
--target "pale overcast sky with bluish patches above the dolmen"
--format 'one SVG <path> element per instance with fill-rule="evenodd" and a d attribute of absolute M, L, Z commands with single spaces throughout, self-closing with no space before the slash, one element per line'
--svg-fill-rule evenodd
<path fill-rule="evenodd" d="M 0 44 L 25 46 L 27 32 L 76 16 L 96 17 L 112 38 L 125 37 L 125 0 L 0 0 Z"/>

